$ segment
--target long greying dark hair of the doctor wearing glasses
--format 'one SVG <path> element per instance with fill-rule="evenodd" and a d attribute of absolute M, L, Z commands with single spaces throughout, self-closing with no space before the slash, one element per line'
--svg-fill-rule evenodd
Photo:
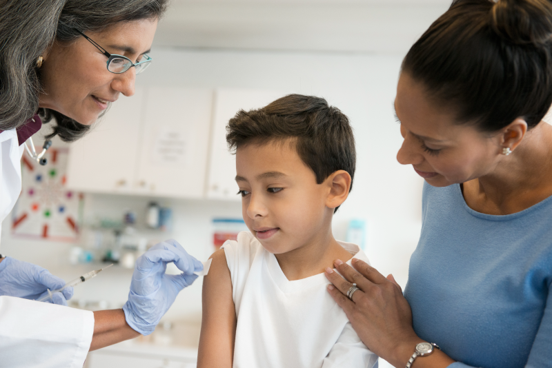
<path fill-rule="evenodd" d="M 55 118 L 50 136 L 75 141 L 90 127 L 57 111 L 39 109 L 37 59 L 52 43 L 70 43 L 81 32 L 119 22 L 160 18 L 168 0 L 0 0 L 0 130 L 26 123 L 37 111 Z"/>

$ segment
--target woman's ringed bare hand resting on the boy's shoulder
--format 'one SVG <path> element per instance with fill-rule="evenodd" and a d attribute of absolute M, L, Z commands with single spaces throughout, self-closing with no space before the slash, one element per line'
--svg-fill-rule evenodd
<path fill-rule="evenodd" d="M 335 262 L 335 267 L 346 280 L 333 269 L 326 268 L 326 277 L 333 284 L 328 285 L 328 291 L 343 308 L 364 345 L 395 367 L 404 367 L 415 345 L 424 340 L 414 332 L 411 307 L 402 295 L 401 287 L 393 276 L 385 278 L 356 258 L 353 258 L 356 271 L 341 260 Z M 359 287 L 353 294 L 353 301 L 346 296 L 352 283 Z M 419 358 L 416 363 L 424 359 Z M 453 360 L 448 358 L 445 365 L 438 366 L 446 367 L 451 362 Z"/>

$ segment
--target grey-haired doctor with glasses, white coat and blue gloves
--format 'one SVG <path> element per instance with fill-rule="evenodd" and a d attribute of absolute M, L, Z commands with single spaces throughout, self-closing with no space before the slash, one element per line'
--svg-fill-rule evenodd
<path fill-rule="evenodd" d="M 1 2 L 0 221 L 21 192 L 22 143 L 52 118 L 51 135 L 74 141 L 120 94 L 132 96 L 165 8 L 166 0 Z M 164 273 L 171 261 L 183 274 Z M 150 334 L 201 268 L 176 241 L 155 245 L 137 260 L 124 307 L 92 313 L 61 306 L 72 289 L 54 304 L 33 301 L 65 282 L 0 256 L 0 367 L 81 368 L 89 350 Z"/>

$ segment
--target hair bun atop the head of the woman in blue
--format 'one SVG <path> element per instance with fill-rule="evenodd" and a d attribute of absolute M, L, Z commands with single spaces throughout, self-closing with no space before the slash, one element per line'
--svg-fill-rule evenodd
<path fill-rule="evenodd" d="M 549 0 L 498 0 L 491 10 L 497 34 L 519 45 L 552 41 L 552 2 Z"/>

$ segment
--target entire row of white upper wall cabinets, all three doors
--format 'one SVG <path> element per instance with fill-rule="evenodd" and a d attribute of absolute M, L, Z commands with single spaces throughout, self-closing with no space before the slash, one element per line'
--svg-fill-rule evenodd
<path fill-rule="evenodd" d="M 239 110 L 262 108 L 285 94 L 137 89 L 135 96 L 121 96 L 89 134 L 71 144 L 68 187 L 82 192 L 240 201 L 226 124 Z"/>

